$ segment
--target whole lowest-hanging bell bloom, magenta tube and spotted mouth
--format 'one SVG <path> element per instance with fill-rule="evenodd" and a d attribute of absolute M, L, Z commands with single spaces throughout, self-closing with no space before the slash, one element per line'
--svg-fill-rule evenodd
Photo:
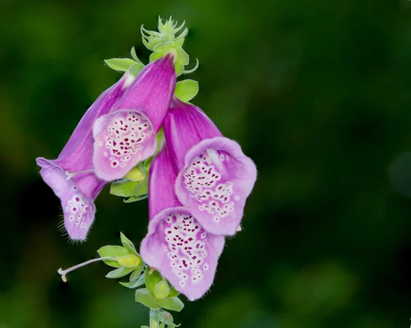
<path fill-rule="evenodd" d="M 155 157 L 149 172 L 149 231 L 140 254 L 169 279 L 190 301 L 205 294 L 214 280 L 224 236 L 206 231 L 175 197 L 176 173 L 166 147 Z"/>

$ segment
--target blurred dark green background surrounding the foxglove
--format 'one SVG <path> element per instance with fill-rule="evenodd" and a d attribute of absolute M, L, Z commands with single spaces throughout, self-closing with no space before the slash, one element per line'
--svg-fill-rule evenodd
<path fill-rule="evenodd" d="M 139 244 L 147 201 L 105 188 L 87 242 L 72 244 L 34 159 L 57 157 L 119 79 L 104 59 L 135 46 L 148 61 L 139 29 L 158 15 L 186 21 L 193 102 L 259 170 L 214 286 L 177 323 L 409 327 L 411 200 L 387 171 L 411 149 L 410 14 L 407 0 L 1 0 L 0 328 L 147 324 L 107 266 L 69 283 L 56 273 L 119 244 L 119 231 Z"/>

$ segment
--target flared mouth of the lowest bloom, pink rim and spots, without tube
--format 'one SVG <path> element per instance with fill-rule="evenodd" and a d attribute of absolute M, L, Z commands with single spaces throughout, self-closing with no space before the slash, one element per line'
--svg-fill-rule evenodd
<path fill-rule="evenodd" d="M 150 221 L 140 254 L 194 301 L 210 289 L 223 247 L 223 236 L 208 234 L 186 207 L 173 207 Z"/>

